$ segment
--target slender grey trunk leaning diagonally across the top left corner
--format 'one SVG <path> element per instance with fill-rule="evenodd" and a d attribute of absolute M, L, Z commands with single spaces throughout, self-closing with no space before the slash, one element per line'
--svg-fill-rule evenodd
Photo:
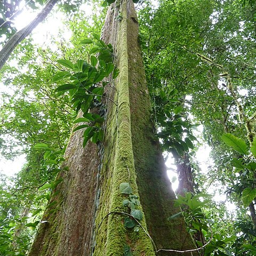
<path fill-rule="evenodd" d="M 3 49 L 0 51 L 0 69 L 4 66 L 5 62 L 10 57 L 15 47 L 23 39 L 30 35 L 33 29 L 47 17 L 57 2 L 58 0 L 49 0 L 44 6 L 43 10 L 37 14 L 36 18 L 31 21 L 29 25 L 27 25 L 25 28 L 22 28 L 5 43 Z"/>

